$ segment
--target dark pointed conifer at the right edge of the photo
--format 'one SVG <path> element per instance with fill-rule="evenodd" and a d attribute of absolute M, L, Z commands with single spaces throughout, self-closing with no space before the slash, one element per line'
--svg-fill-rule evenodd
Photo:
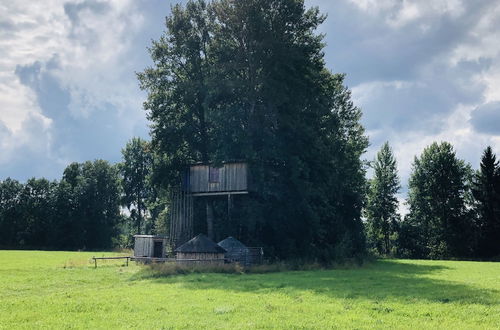
<path fill-rule="evenodd" d="M 500 166 L 491 147 L 484 150 L 479 171 L 474 176 L 473 195 L 477 201 L 481 257 L 500 255 Z"/>

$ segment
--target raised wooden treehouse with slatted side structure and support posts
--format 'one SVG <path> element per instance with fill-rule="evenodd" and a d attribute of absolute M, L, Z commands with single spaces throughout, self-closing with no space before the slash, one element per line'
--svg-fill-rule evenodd
<path fill-rule="evenodd" d="M 170 204 L 170 245 L 173 249 L 193 237 L 193 199 L 227 196 L 228 215 L 233 195 L 248 194 L 249 170 L 246 162 L 226 162 L 220 166 L 194 164 L 184 172 L 180 189 L 172 192 Z M 210 217 L 213 210 L 207 203 L 207 234 L 213 239 Z M 213 219 L 212 219 L 213 223 Z"/>

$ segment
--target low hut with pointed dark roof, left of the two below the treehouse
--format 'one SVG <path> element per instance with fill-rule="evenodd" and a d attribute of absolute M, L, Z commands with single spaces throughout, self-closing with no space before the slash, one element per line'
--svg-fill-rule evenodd
<path fill-rule="evenodd" d="M 224 250 L 210 238 L 199 234 L 175 249 L 176 260 L 188 263 L 224 263 Z"/>

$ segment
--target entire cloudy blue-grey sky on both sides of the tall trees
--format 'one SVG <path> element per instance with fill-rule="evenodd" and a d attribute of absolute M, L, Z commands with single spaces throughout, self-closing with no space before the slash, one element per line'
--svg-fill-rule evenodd
<path fill-rule="evenodd" d="M 148 138 L 136 72 L 164 31 L 158 0 L 0 0 L 0 179 L 59 179 Z M 474 168 L 500 152 L 500 1 L 306 0 L 328 16 L 325 60 L 345 73 L 373 159 L 389 141 L 405 197 L 414 157 L 452 143 Z M 402 206 L 404 208 L 404 206 Z"/>

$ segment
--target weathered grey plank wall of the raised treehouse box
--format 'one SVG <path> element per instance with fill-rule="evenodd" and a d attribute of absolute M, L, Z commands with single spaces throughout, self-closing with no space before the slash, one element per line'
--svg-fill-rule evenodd
<path fill-rule="evenodd" d="M 209 165 L 189 168 L 188 191 L 191 193 L 247 191 L 248 166 L 246 163 L 226 163 L 219 168 L 218 182 L 210 182 Z"/>

